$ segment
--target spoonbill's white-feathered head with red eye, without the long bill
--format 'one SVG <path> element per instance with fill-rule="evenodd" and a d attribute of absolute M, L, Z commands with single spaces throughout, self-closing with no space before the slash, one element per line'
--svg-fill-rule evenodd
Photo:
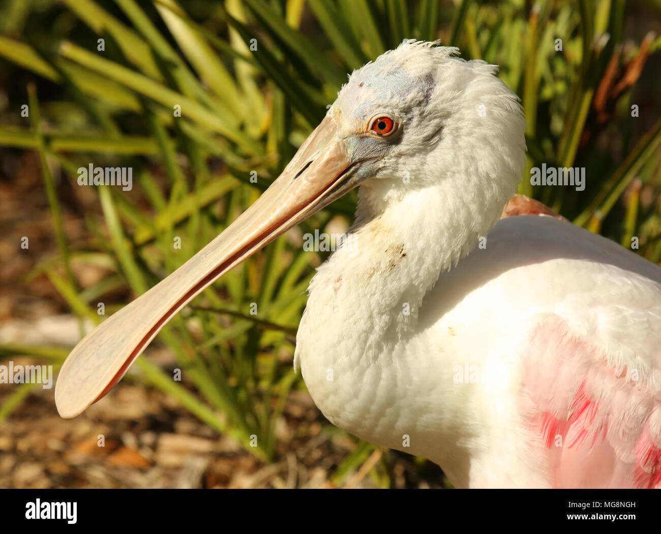
<path fill-rule="evenodd" d="M 522 108 L 496 67 L 456 53 L 406 40 L 354 71 L 287 171 L 328 176 L 321 164 L 332 153 L 342 194 L 377 178 L 398 197 L 459 176 L 473 180 L 467 189 L 497 191 L 504 204 L 525 164 Z"/>

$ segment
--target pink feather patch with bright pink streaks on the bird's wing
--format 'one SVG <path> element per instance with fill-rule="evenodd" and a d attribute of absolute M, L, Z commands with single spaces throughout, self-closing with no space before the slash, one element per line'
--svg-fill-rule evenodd
<path fill-rule="evenodd" d="M 524 349 L 521 400 L 529 444 L 551 484 L 661 488 L 658 370 L 636 358 L 623 364 L 550 317 Z"/>

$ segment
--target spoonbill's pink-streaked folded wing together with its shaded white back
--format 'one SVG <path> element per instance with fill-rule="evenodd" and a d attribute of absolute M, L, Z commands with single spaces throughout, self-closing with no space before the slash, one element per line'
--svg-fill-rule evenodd
<path fill-rule="evenodd" d="M 661 486 L 657 265 L 555 218 L 504 218 L 440 277 L 422 329 L 439 317 L 488 337 L 464 340 L 467 359 L 516 352 L 516 430 L 549 483 Z"/>

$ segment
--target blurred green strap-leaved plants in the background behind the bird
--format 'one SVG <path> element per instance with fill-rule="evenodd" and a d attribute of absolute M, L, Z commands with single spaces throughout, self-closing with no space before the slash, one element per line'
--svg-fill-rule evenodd
<path fill-rule="evenodd" d="M 658 263 L 660 33 L 659 0 L 5 0 L 0 174 L 20 198 L 3 234 L 26 235 L 16 228 L 41 194 L 52 217 L 45 243 L 56 244 L 5 242 L 3 263 L 32 259 L 6 283 L 48 284 L 83 333 L 102 319 L 99 302 L 112 314 L 219 234 L 278 176 L 347 74 L 404 38 L 440 38 L 499 65 L 525 108 L 524 176 L 542 163 L 587 169 L 584 191 L 526 179 L 520 192 L 623 246 L 637 237 L 637 253 Z M 77 168 L 90 163 L 132 167 L 133 189 L 79 187 Z M 153 345 L 174 354 L 182 382 L 149 356 L 128 378 L 276 461 L 288 450 L 278 421 L 305 389 L 292 370 L 305 289 L 325 259 L 302 250 L 301 234 L 343 232 L 354 205 L 349 195 L 280 237 L 163 330 Z M 5 319 L 19 308 L 5 302 Z M 69 348 L 5 340 L 0 357 L 57 368 Z M 35 389 L 0 397 L 0 422 Z M 363 466 L 373 484 L 397 485 L 387 455 L 354 444 L 332 465 L 334 483 Z"/>

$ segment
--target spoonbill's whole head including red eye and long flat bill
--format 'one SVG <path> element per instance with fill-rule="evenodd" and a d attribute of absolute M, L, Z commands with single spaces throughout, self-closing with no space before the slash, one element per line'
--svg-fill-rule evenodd
<path fill-rule="evenodd" d="M 463 191 L 466 204 L 488 205 L 489 217 L 497 218 L 525 163 L 521 106 L 495 67 L 455 52 L 408 40 L 355 71 L 280 177 L 241 217 L 73 349 L 56 385 L 59 413 L 73 417 L 103 397 L 194 296 L 358 185 L 379 189 L 387 201 L 441 184 Z"/>

